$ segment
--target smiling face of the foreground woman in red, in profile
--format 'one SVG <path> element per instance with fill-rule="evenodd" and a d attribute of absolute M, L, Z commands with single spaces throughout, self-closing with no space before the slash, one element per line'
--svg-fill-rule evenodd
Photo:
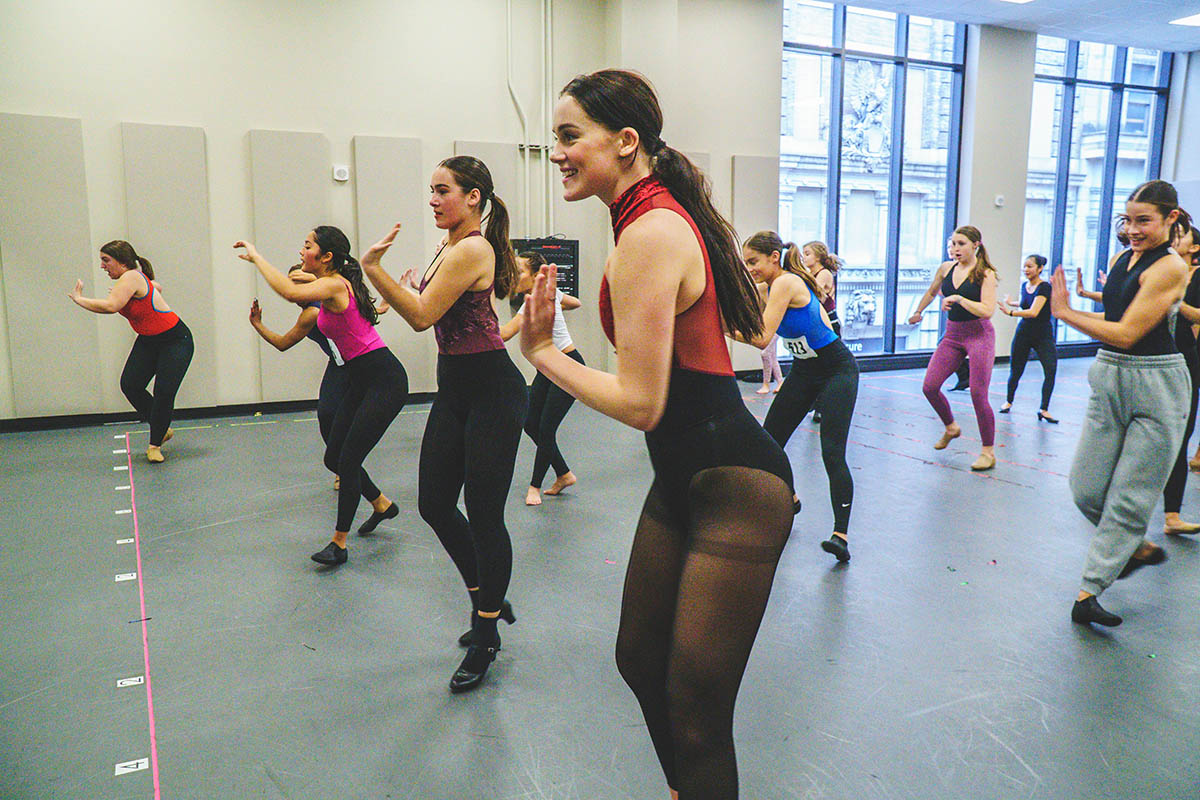
<path fill-rule="evenodd" d="M 641 146 L 632 128 L 610 131 L 588 116 L 570 95 L 554 104 L 554 151 L 550 160 L 563 178 L 563 199 L 596 196 L 616 199 L 616 186 L 625 164 Z"/>

